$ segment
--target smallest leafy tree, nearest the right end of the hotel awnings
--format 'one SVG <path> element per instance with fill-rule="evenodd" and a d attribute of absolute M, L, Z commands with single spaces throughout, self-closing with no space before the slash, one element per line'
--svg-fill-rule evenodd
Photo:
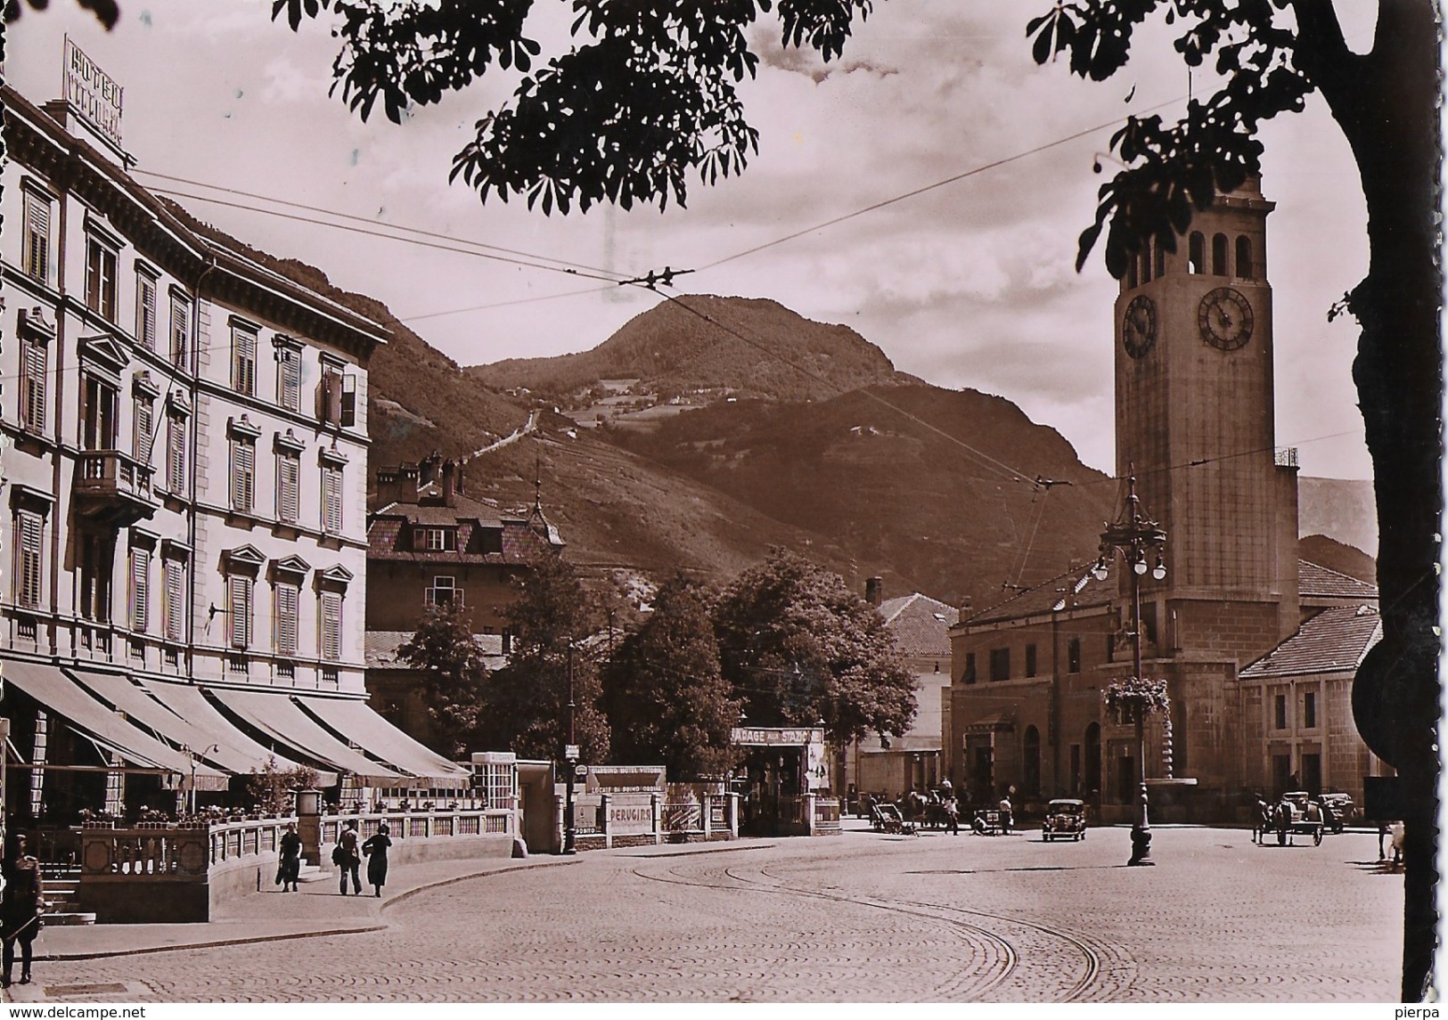
<path fill-rule="evenodd" d="M 472 637 L 468 613 L 452 605 L 429 606 L 417 632 L 398 658 L 423 671 L 423 703 L 432 722 L 429 741 L 449 758 L 459 758 L 476 739 L 488 664 Z"/>

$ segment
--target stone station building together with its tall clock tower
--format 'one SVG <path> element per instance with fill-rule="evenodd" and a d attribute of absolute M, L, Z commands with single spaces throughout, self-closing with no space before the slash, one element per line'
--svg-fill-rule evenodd
<path fill-rule="evenodd" d="M 1376 589 L 1299 563 L 1296 451 L 1274 449 L 1271 208 L 1248 181 L 1199 211 L 1174 252 L 1151 245 L 1121 281 L 1116 469 L 1167 537 L 1164 576 L 1138 577 L 1119 561 L 1108 580 L 1073 569 L 951 629 L 947 760 L 975 796 L 1009 787 L 1082 796 L 1106 817 L 1127 817 L 1140 773 L 1135 732 L 1103 712 L 1102 692 L 1132 668 L 1134 585 L 1142 670 L 1166 680 L 1171 700 L 1169 718 L 1148 726 L 1147 774 L 1193 783 L 1163 791 L 1154 813 L 1160 800 L 1167 817 L 1232 817 L 1248 790 L 1280 793 L 1277 780 L 1289 778 L 1361 799 L 1361 777 L 1380 768 L 1319 676 L 1321 663 L 1341 671 L 1344 657 L 1365 653 L 1354 641 L 1373 639 L 1363 621 L 1376 619 Z M 1355 653 L 1303 639 L 1332 606 L 1364 613 L 1348 641 Z M 1297 741 L 1284 751 L 1283 735 L 1260 725 L 1263 684 L 1268 673 L 1287 684 L 1280 668 L 1289 667 L 1247 667 L 1283 642 L 1323 657 L 1290 694 L 1319 684 L 1318 718 L 1332 721 L 1331 731 L 1313 731 L 1322 747 Z M 1289 760 L 1297 771 L 1279 774 Z M 1339 762 L 1331 780 L 1313 764 L 1328 760 Z"/>

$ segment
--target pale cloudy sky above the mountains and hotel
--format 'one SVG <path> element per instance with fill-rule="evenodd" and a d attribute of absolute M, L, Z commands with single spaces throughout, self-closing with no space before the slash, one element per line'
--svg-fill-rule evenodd
<path fill-rule="evenodd" d="M 142 184 L 381 299 L 460 365 L 586 350 L 660 299 L 559 262 L 630 276 L 695 269 L 678 278 L 681 292 L 772 298 L 850 326 L 898 369 L 1005 396 L 1087 464 L 1114 467 L 1116 282 L 1099 250 L 1074 271 L 1076 237 L 1105 181 L 1092 163 L 1122 117 L 1174 117 L 1189 88 L 1209 88 L 1202 72 L 1189 82 L 1161 26 L 1144 29 L 1115 78 L 1087 82 L 1031 59 L 1025 22 L 1045 0 L 882 0 L 828 65 L 782 49 L 766 16 L 752 32 L 759 74 L 741 88 L 760 152 L 740 178 L 691 184 L 682 210 L 544 217 L 447 182 L 475 122 L 511 91 L 507 75 L 489 72 L 403 124 L 381 107 L 362 123 L 340 93 L 329 97 L 339 43 L 324 22 L 292 33 L 271 20 L 271 0 L 120 6 L 110 33 L 67 0 L 26 9 L 9 32 L 10 84 L 38 103 L 58 97 L 70 35 L 125 88 L 123 143 Z M 1376 1 L 1337 7 L 1350 45 L 1367 49 Z M 568 4 L 536 10 L 543 38 L 566 39 Z M 1267 253 L 1277 444 L 1299 449 L 1303 475 L 1367 479 L 1357 328 L 1326 318 L 1367 269 L 1351 153 L 1316 97 L 1266 126 L 1263 142 L 1263 191 L 1277 203 Z M 439 237 L 375 236 L 403 227 Z"/>

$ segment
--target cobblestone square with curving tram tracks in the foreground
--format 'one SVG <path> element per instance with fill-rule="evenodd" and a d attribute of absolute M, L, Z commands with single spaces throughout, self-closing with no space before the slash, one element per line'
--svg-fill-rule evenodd
<path fill-rule="evenodd" d="M 46 1001 L 1392 1001 L 1371 835 L 741 841 L 423 890 L 385 930 L 38 964 Z M 90 990 L 85 988 L 90 985 Z"/>

